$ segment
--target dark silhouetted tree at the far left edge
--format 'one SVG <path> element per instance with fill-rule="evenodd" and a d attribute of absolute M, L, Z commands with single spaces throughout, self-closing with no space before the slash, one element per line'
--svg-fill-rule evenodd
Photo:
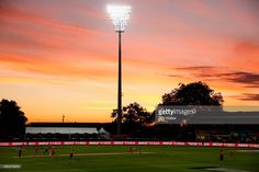
<path fill-rule="evenodd" d="M 26 121 L 27 118 L 16 102 L 4 99 L 0 102 L 0 138 L 21 135 Z"/>

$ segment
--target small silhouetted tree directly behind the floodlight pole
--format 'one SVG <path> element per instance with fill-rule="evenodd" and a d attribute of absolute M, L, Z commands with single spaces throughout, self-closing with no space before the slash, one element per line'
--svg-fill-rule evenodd
<path fill-rule="evenodd" d="M 117 118 L 117 110 L 113 110 L 111 117 Z M 147 125 L 153 123 L 153 116 L 146 108 L 134 102 L 123 107 L 122 123 Z"/>

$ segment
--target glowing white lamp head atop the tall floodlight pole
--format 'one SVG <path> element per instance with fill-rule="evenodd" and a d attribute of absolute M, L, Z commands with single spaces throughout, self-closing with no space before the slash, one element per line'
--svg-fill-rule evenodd
<path fill-rule="evenodd" d="M 116 32 L 124 32 L 130 19 L 130 13 L 132 12 L 132 7 L 130 5 L 108 5 L 108 13 L 115 26 Z"/>

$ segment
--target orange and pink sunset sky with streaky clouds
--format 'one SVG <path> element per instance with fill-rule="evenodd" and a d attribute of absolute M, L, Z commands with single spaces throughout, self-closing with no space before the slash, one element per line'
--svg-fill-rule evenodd
<path fill-rule="evenodd" d="M 0 0 L 0 99 L 29 122 L 111 122 L 117 34 L 106 4 L 132 5 L 122 35 L 123 105 L 148 111 L 179 83 L 259 106 L 257 0 Z"/>

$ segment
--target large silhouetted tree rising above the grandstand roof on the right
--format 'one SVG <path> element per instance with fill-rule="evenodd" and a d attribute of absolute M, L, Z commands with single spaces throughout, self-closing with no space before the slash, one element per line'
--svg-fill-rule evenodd
<path fill-rule="evenodd" d="M 179 83 L 179 88 L 162 95 L 162 105 L 222 105 L 219 92 L 215 93 L 204 82 Z"/>

